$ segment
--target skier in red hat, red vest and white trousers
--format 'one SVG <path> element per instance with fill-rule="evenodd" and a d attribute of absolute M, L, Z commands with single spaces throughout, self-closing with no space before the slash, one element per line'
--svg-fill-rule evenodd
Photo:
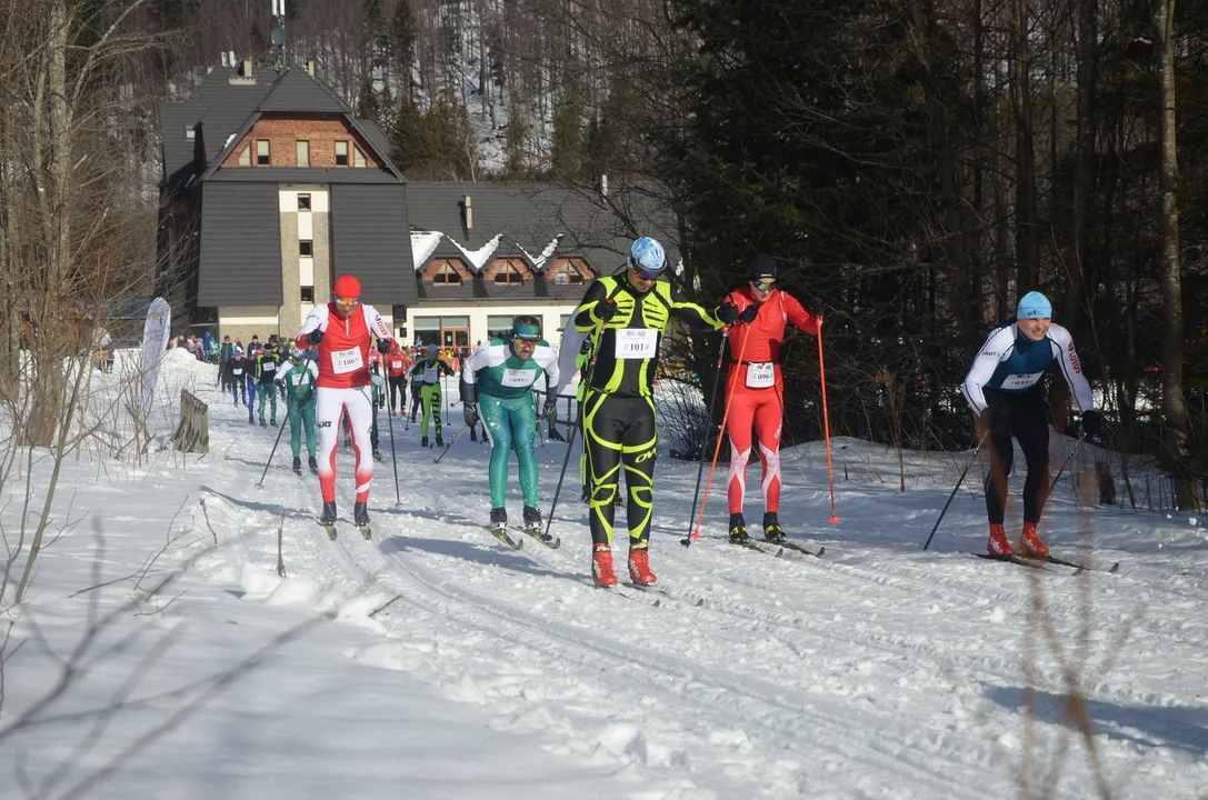
<path fill-rule="evenodd" d="M 342 411 L 353 424 L 353 452 L 356 453 L 358 526 L 368 524 L 370 482 L 373 459 L 370 429 L 373 400 L 370 388 L 370 337 L 377 350 L 389 352 L 394 336 L 373 306 L 361 302 L 361 284 L 353 276 L 336 280 L 335 300 L 315 306 L 295 337 L 298 347 L 319 350 L 319 381 L 315 384 L 315 427 L 319 429 L 319 488 L 323 492 L 323 523 L 336 522 L 336 441 Z"/>

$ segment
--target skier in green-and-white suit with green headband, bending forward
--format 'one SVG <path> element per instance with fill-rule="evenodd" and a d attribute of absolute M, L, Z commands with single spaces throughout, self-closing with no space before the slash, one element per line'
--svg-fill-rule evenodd
<path fill-rule="evenodd" d="M 481 415 L 490 441 L 490 529 L 495 535 L 507 528 L 504 498 L 513 446 L 521 468 L 521 491 L 524 493 L 524 532 L 538 538 L 541 534 L 541 511 L 536 508 L 536 456 L 533 452 L 538 421 L 533 384 L 542 373 L 547 388 L 558 384 L 558 356 L 541 338 L 541 324 L 529 315 L 513 320 L 511 341 L 493 338 L 481 344 L 461 370 L 465 424 L 472 428 Z M 547 392 L 541 419 L 553 416 L 556 402 L 553 392 Z"/>

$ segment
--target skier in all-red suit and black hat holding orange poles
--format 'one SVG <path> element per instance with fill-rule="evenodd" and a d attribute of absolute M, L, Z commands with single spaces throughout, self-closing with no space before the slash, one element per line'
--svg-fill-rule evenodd
<path fill-rule="evenodd" d="M 730 434 L 730 540 L 745 541 L 743 495 L 747 462 L 751 454 L 751 423 L 759 436 L 763 462 L 763 537 L 783 541 L 777 517 L 780 508 L 780 428 L 784 418 L 784 381 L 780 348 L 789 323 L 818 335 L 821 317 L 808 313 L 792 295 L 777 288 L 776 261 L 760 254 L 751 261 L 750 279 L 722 301 L 737 308 L 738 324 L 730 329 L 730 353 L 734 363 L 726 376 L 726 433 Z M 730 312 L 731 315 L 734 312 Z M 719 315 L 721 315 L 719 313 Z M 738 361 L 739 356 L 743 359 Z"/>

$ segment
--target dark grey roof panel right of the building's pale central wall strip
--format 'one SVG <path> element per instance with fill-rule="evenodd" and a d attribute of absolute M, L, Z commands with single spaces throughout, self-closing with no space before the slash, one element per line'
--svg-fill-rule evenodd
<path fill-rule="evenodd" d="M 365 170 L 356 170 L 365 172 Z M 374 306 L 412 306 L 416 274 L 402 184 L 335 184 L 331 187 L 335 274 L 354 274 Z"/>

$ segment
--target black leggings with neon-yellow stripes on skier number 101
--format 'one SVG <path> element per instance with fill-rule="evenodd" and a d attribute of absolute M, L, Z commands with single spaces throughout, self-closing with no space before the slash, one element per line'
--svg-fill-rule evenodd
<path fill-rule="evenodd" d="M 650 541 L 650 517 L 655 504 L 655 459 L 658 436 L 655 404 L 650 398 L 618 398 L 587 392 L 583 398 L 583 441 L 587 445 L 587 473 L 592 495 L 588 502 L 592 543 L 612 544 L 612 521 L 617 482 L 625 466 L 629 491 L 626 521 L 629 549 Z"/>

